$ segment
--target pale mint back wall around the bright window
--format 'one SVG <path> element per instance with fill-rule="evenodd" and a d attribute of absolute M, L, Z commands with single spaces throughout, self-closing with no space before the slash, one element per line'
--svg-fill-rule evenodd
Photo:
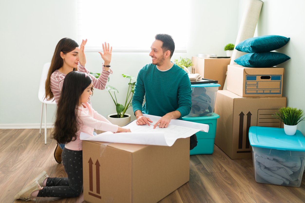
<path fill-rule="evenodd" d="M 55 46 L 61 38 L 76 39 L 76 2 L 1 1 L 0 127 L 5 124 L 39 123 L 41 103 L 38 100 L 38 85 L 41 68 L 51 61 Z M 174 53 L 172 59 L 180 56 L 191 58 L 199 53 L 225 56 L 223 47 L 234 43 L 236 39 L 239 1 L 190 2 L 191 20 L 188 25 L 181 25 L 179 28 L 181 32 L 189 33 L 188 52 Z M 228 10 L 231 11 L 230 14 Z M 154 36 L 147 37 L 152 41 L 154 39 Z M 148 49 L 150 46 L 150 43 L 147 44 Z M 86 67 L 92 72 L 100 72 L 100 55 L 90 52 L 86 53 L 86 57 Z M 110 76 L 109 85 L 119 90 L 119 100 L 124 100 L 125 95 L 121 93 L 127 89 L 128 82 L 121 75 L 124 73 L 136 76 L 139 69 L 150 62 L 149 53 L 113 52 L 111 68 L 114 74 Z M 107 91 L 95 90 L 91 102 L 93 108 L 105 117 L 115 112 Z M 48 105 L 47 123 L 54 121 L 55 109 L 55 105 Z M 132 114 L 131 108 L 127 113 Z"/>

